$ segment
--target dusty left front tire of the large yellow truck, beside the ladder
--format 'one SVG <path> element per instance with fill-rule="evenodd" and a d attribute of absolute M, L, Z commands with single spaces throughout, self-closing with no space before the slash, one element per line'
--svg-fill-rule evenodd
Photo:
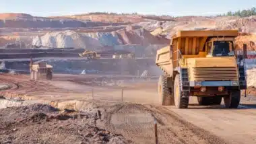
<path fill-rule="evenodd" d="M 183 97 L 181 91 L 181 78 L 177 74 L 174 79 L 174 103 L 176 108 L 187 108 L 189 106 L 189 96 Z"/>

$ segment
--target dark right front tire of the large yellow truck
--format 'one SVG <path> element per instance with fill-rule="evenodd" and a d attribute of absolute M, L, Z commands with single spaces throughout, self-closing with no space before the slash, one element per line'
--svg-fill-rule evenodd
<path fill-rule="evenodd" d="M 225 96 L 223 99 L 226 108 L 238 108 L 241 99 L 241 91 L 238 89 L 231 90 L 229 96 Z"/>

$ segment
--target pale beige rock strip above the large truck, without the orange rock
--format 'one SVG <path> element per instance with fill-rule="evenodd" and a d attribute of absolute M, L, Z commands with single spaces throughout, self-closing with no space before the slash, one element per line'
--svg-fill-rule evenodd
<path fill-rule="evenodd" d="M 239 30 L 245 33 L 256 32 L 256 16 L 251 17 L 188 17 L 162 23 L 162 34 L 172 36 L 179 30 Z M 156 30 L 160 22 L 141 22 L 146 30 Z"/>

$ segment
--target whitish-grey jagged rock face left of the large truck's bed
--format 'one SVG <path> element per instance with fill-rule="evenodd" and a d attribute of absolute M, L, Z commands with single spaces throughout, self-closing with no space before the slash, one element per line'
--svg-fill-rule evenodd
<path fill-rule="evenodd" d="M 44 36 L 33 38 L 32 45 L 50 48 L 87 48 L 94 50 L 100 46 L 116 46 L 125 44 L 168 44 L 166 38 L 152 36 L 148 30 L 117 30 L 104 33 L 79 33 L 74 31 L 50 32 Z"/>

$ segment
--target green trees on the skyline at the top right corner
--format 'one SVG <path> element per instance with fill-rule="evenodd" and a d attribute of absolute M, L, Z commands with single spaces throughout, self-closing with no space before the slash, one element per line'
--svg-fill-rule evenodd
<path fill-rule="evenodd" d="M 239 17 L 249 17 L 251 15 L 256 15 L 256 8 L 244 9 L 243 11 L 228 11 L 227 13 L 218 15 L 218 16 L 239 16 Z"/>

